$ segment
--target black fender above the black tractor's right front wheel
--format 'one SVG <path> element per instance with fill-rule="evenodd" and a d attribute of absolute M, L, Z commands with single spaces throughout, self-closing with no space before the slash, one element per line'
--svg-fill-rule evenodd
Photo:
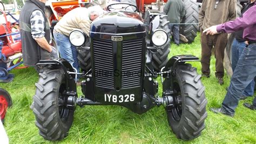
<path fill-rule="evenodd" d="M 169 61 L 166 63 L 164 71 L 171 70 L 172 76 L 175 75 L 174 69 L 177 65 L 185 64 L 187 61 L 200 61 L 200 59 L 193 55 L 179 55 L 179 56 L 173 56 L 169 59 Z"/>

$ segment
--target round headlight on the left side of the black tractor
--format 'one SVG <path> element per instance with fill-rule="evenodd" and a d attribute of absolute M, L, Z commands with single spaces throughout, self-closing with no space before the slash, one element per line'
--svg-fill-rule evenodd
<path fill-rule="evenodd" d="M 82 46 L 86 41 L 85 33 L 82 30 L 73 30 L 69 34 L 69 41 L 74 46 Z"/>

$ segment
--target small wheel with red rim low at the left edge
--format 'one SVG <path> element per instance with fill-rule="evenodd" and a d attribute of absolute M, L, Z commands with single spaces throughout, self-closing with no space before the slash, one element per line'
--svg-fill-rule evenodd
<path fill-rule="evenodd" d="M 12 105 L 12 100 L 10 94 L 3 88 L 0 88 L 0 116 L 1 121 L 4 122 L 5 114 L 7 108 Z"/>

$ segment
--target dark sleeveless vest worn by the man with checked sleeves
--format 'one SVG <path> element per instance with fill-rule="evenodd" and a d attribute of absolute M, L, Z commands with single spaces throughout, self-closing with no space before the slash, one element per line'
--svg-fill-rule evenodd
<path fill-rule="evenodd" d="M 47 42 L 50 42 L 51 32 L 48 20 L 44 14 L 45 4 L 35 0 L 26 0 L 21 14 L 19 16 L 19 26 L 21 28 L 21 39 L 22 39 L 22 55 L 23 61 L 25 65 L 35 66 L 39 60 L 41 59 L 50 59 L 51 54 L 42 49 L 36 42 L 35 39 L 32 38 L 31 35 L 31 25 L 30 25 L 30 17 L 32 12 L 35 10 L 40 10 L 44 15 L 45 22 L 45 38 Z"/>

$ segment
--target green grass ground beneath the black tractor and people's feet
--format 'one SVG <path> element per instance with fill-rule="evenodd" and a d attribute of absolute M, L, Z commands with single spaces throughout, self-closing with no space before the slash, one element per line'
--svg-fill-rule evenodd
<path fill-rule="evenodd" d="M 171 47 L 169 57 L 177 54 L 193 54 L 200 57 L 199 36 L 195 42 Z M 199 62 L 191 63 L 201 73 Z M 62 143 L 256 143 L 256 112 L 242 106 L 243 102 L 252 102 L 253 98 L 242 100 L 236 109 L 234 118 L 214 114 L 210 107 L 219 107 L 223 101 L 230 78 L 225 74 L 225 83 L 220 86 L 214 77 L 215 60 L 211 60 L 211 77 L 202 78 L 208 100 L 205 129 L 201 136 L 192 141 L 183 141 L 172 133 L 166 118 L 164 107 L 152 108 L 138 115 L 119 106 L 77 107 L 73 125 L 68 137 Z M 35 94 L 38 76 L 33 68 L 12 70 L 15 79 L 11 83 L 1 83 L 0 87 L 9 91 L 13 106 L 5 119 L 5 129 L 10 143 L 50 143 L 45 141 L 35 126 L 35 116 L 29 108 Z M 160 81 L 159 81 L 160 84 Z M 161 86 L 160 86 L 161 87 Z M 161 88 L 159 88 L 161 94 Z M 78 87 L 79 95 L 80 87 Z M 254 94 L 255 95 L 255 94 Z M 1 143 L 1 140 L 0 140 Z"/>

